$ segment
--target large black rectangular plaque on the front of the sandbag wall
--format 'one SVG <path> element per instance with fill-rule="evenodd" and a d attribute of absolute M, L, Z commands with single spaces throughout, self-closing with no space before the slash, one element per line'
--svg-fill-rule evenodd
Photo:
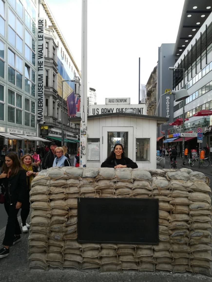
<path fill-rule="evenodd" d="M 158 199 L 78 198 L 80 243 L 158 244 Z"/>

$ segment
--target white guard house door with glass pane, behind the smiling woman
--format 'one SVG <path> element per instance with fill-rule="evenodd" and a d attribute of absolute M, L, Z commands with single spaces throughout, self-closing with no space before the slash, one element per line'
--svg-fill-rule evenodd
<path fill-rule="evenodd" d="M 102 162 L 110 155 L 116 143 L 124 147 L 125 157 L 133 160 L 133 127 L 102 127 Z"/>

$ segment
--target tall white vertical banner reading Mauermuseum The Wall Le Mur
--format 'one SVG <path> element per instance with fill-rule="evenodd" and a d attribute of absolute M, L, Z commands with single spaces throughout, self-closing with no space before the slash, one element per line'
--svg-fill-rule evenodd
<path fill-rule="evenodd" d="M 44 18 L 38 18 L 38 120 L 43 123 L 44 101 Z"/>

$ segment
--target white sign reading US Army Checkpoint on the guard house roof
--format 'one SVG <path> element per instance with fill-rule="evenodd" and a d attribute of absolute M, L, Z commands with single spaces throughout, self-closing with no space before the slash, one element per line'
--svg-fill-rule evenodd
<path fill-rule="evenodd" d="M 95 114 L 112 114 L 112 113 L 124 113 L 126 109 L 131 109 L 135 114 L 146 114 L 145 104 L 133 104 L 133 105 L 90 105 L 89 115 Z"/>

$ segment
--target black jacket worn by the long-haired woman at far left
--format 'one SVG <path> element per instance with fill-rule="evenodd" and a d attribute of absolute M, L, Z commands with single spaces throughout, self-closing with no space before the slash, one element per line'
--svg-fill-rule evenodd
<path fill-rule="evenodd" d="M 5 202 L 15 204 L 23 202 L 27 191 L 27 174 L 24 169 L 19 169 L 16 175 L 0 179 L 1 192 L 5 194 Z"/>

